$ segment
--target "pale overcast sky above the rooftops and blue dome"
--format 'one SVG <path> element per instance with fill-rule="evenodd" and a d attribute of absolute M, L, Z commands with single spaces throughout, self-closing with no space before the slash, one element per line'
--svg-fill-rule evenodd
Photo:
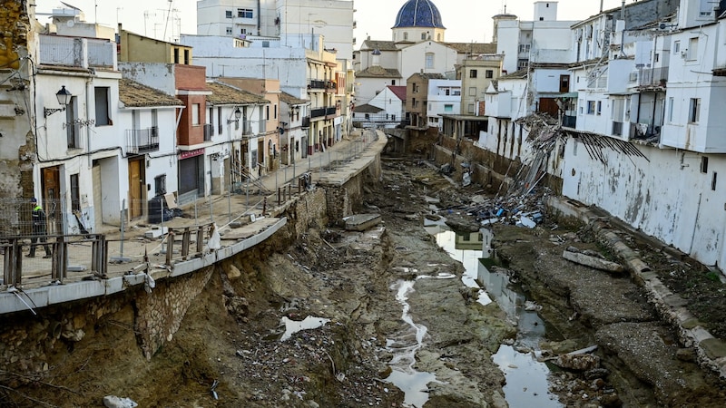
<path fill-rule="evenodd" d="M 633 0 L 627 0 L 632 3 Z M 37 13 L 50 13 L 52 9 L 61 7 L 59 0 L 35 0 Z M 179 33 L 196 33 L 196 0 L 66 0 L 64 3 L 74 5 L 85 13 L 89 22 L 115 26 L 117 21 L 127 30 L 137 34 L 161 38 L 166 32 L 167 39 Z M 355 2 L 355 19 L 358 29 L 355 36 L 358 46 L 370 35 L 376 40 L 390 40 L 396 14 L 406 0 L 357 0 Z M 504 11 L 517 15 L 523 20 L 532 19 L 534 1 L 532 0 L 435 0 L 446 26 L 448 42 L 478 42 L 492 40 L 492 15 Z M 560 0 L 558 2 L 559 20 L 582 20 L 600 11 L 601 0 Z M 172 18 L 167 19 L 168 10 L 172 9 Z M 622 0 L 603 0 L 603 8 L 610 9 L 622 5 Z M 173 16 L 179 17 L 174 19 Z M 47 18 L 38 15 L 41 23 Z M 169 24 L 166 24 L 167 20 Z"/>

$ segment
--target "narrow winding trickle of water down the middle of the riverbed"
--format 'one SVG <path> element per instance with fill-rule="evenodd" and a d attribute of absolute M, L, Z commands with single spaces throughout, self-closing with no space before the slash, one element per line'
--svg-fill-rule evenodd
<path fill-rule="evenodd" d="M 391 289 L 396 290 L 396 300 L 403 306 L 401 320 L 416 333 L 416 342 L 412 345 L 403 345 L 398 341 L 388 339 L 386 348 L 393 354 L 388 365 L 391 367 L 391 374 L 386 381 L 394 384 L 403 391 L 404 403 L 420 408 L 428 401 L 428 383 L 436 381 L 435 374 L 418 372 L 413 368 L 416 364 L 416 352 L 423 346 L 424 336 L 427 334 L 427 326 L 414 323 L 411 315 L 408 314 L 408 294 L 414 290 L 415 281 L 400 280 Z"/>

